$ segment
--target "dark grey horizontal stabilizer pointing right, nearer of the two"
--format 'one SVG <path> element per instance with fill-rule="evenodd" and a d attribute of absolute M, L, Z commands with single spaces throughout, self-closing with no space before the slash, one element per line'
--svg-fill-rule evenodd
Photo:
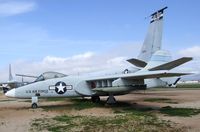
<path fill-rule="evenodd" d="M 192 57 L 182 57 L 180 59 L 174 60 L 174 61 L 170 61 L 168 63 L 153 67 L 151 69 L 149 69 L 149 71 L 156 71 L 156 70 L 171 70 L 177 66 L 180 66 L 188 61 L 191 61 Z"/>

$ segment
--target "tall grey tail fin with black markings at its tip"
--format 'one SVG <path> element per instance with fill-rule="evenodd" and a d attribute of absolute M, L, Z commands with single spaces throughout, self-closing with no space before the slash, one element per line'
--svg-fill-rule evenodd
<path fill-rule="evenodd" d="M 148 62 L 154 52 L 161 49 L 163 13 L 167 7 L 151 14 L 150 26 L 145 37 L 138 59 Z"/>

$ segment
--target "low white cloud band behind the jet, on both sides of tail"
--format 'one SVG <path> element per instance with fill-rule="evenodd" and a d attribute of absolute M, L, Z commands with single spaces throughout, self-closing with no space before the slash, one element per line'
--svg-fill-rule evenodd
<path fill-rule="evenodd" d="M 38 61 L 18 60 L 12 63 L 12 69 L 13 73 L 39 75 L 46 71 L 57 71 L 64 74 L 80 74 L 123 67 L 127 65 L 127 62 L 125 61 L 127 57 L 130 57 L 130 54 L 126 54 L 125 49 L 127 47 L 137 47 L 137 45 L 131 45 L 132 46 L 126 45 L 125 47 L 121 47 L 120 45 L 115 50 L 112 49 L 112 51 L 116 51 L 117 54 L 108 50 L 103 54 L 85 52 L 68 57 L 46 56 Z M 134 52 L 134 49 L 130 50 L 130 52 Z M 200 71 L 200 59 L 195 59 L 177 67 L 177 70 L 198 73 Z M 8 66 L 0 69 L 0 74 L 0 80 L 7 81 Z M 21 80 L 21 78 L 18 78 L 17 80 Z"/>

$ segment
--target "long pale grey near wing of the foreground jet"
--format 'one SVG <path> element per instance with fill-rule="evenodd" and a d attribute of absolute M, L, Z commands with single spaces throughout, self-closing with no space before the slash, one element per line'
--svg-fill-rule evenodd
<path fill-rule="evenodd" d="M 174 76 L 183 76 L 191 73 L 178 73 L 170 72 L 168 70 L 159 70 L 159 71 L 139 71 L 136 73 L 120 74 L 120 75 L 110 75 L 103 77 L 91 77 L 86 79 L 86 81 L 99 81 L 99 80 L 109 80 L 109 79 L 148 79 L 148 78 L 164 78 L 164 77 L 174 77 Z"/>

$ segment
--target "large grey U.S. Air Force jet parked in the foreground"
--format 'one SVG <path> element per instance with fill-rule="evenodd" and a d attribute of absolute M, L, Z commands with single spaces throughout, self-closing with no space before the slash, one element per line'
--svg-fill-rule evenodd
<path fill-rule="evenodd" d="M 138 58 L 127 60 L 134 66 L 81 75 L 59 76 L 48 80 L 41 77 L 42 79 L 14 88 L 5 95 L 14 98 L 31 98 L 32 108 L 37 108 L 38 98 L 42 97 L 91 97 L 93 102 L 99 102 L 100 96 L 108 96 L 107 103 L 115 103 L 114 96 L 117 95 L 151 87 L 176 85 L 180 76 L 189 73 L 174 72 L 172 69 L 192 58 L 182 57 L 172 60 L 168 51 L 161 50 L 163 14 L 166 8 L 151 14 L 149 30 Z"/>

